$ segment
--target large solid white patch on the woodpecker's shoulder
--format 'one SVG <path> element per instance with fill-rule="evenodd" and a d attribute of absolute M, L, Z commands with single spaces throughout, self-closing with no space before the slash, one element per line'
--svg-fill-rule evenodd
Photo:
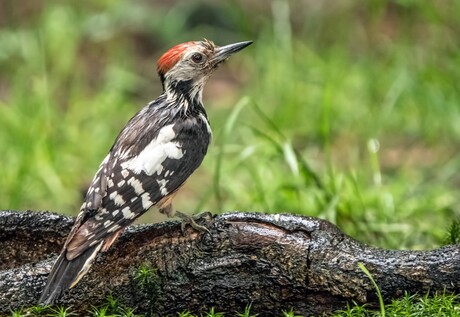
<path fill-rule="evenodd" d="M 177 142 L 172 142 L 175 137 L 173 125 L 164 126 L 158 136 L 139 155 L 123 163 L 122 168 L 129 168 L 136 174 L 141 172 L 149 176 L 160 174 L 166 159 L 177 160 L 184 156 L 181 146 Z"/>

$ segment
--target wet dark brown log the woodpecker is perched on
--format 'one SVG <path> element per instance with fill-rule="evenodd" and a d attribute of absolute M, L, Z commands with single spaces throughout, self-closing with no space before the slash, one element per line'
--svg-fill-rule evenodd
<path fill-rule="evenodd" d="M 35 305 L 73 218 L 48 212 L 0 212 L 0 312 Z M 179 222 L 128 228 L 90 272 L 59 301 L 85 310 L 109 293 L 138 313 L 176 315 L 211 307 L 234 314 L 252 303 L 259 316 L 291 307 L 329 313 L 352 301 L 376 305 L 371 272 L 385 299 L 404 292 L 458 292 L 458 246 L 392 251 L 353 240 L 331 223 L 288 214 L 234 212 L 215 216 L 210 233 Z M 156 267 L 149 287 L 134 278 Z"/>

